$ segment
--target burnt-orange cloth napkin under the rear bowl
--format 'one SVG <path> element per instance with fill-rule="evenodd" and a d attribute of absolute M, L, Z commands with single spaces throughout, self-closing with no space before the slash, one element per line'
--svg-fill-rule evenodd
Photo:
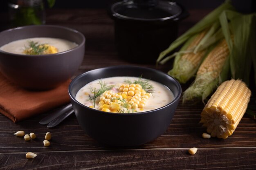
<path fill-rule="evenodd" d="M 0 113 L 18 122 L 70 102 L 71 80 L 48 91 L 28 91 L 0 73 Z"/>

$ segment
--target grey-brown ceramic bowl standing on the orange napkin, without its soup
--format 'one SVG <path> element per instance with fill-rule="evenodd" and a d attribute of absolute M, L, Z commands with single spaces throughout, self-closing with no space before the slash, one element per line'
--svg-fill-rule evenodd
<path fill-rule="evenodd" d="M 55 88 L 70 79 L 83 61 L 85 37 L 63 26 L 33 25 L 2 31 L 0 46 L 9 42 L 35 37 L 61 38 L 78 44 L 73 49 L 56 54 L 22 55 L 0 50 L 0 72 L 12 82 L 33 89 Z"/>

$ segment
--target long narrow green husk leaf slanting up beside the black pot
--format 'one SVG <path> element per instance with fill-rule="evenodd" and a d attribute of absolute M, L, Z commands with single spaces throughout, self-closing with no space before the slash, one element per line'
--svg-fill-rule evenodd
<path fill-rule="evenodd" d="M 202 20 L 200 20 L 197 24 L 195 24 L 191 29 L 186 31 L 183 35 L 181 35 L 179 38 L 177 38 L 171 45 L 168 47 L 168 49 L 162 51 L 159 54 L 159 57 L 157 58 L 157 64 L 171 51 L 176 49 L 178 46 L 180 46 L 182 43 L 184 43 L 186 40 L 191 38 L 191 36 L 202 32 L 204 29 L 207 29 L 207 27 L 211 26 L 213 23 L 218 21 L 218 17 L 220 13 L 224 10 L 234 10 L 234 7 L 231 5 L 230 0 L 225 1 L 222 5 L 220 5 L 218 8 L 213 10 L 211 13 L 209 13 L 207 16 L 205 16 Z"/>

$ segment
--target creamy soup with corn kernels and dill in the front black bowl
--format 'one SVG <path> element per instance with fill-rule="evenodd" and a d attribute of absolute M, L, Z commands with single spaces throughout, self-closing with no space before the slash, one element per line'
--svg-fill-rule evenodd
<path fill-rule="evenodd" d="M 76 100 L 85 106 L 112 113 L 154 110 L 173 101 L 169 88 L 138 77 L 109 77 L 83 86 Z"/>

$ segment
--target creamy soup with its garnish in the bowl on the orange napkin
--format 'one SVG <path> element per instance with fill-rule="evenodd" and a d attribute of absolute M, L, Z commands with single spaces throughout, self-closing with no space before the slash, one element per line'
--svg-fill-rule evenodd
<path fill-rule="evenodd" d="M 32 46 L 33 48 L 31 48 L 31 42 L 36 43 L 34 46 Z M 31 50 L 35 50 L 36 48 L 36 50 L 38 51 L 44 50 L 43 53 L 38 53 L 39 55 L 60 53 L 63 51 L 70 50 L 76 46 L 78 46 L 78 44 L 60 38 L 29 38 L 16 40 L 8 44 L 5 44 L 0 47 L 0 50 L 16 54 L 30 54 L 29 52 L 31 52 Z M 35 53 L 31 54 L 36 55 Z"/>

